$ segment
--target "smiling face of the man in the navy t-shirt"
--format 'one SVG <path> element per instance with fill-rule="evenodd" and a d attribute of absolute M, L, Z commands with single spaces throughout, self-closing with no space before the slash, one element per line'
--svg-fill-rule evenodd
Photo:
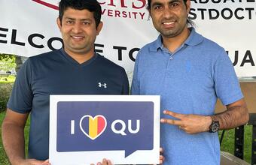
<path fill-rule="evenodd" d="M 64 49 L 69 55 L 94 53 L 94 42 L 102 23 L 96 28 L 92 12 L 68 8 L 63 14 L 62 21 L 57 19 L 57 24 L 62 33 Z"/>

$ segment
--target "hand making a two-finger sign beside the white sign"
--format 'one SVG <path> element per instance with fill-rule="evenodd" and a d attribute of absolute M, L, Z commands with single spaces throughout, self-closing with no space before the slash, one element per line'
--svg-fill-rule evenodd
<path fill-rule="evenodd" d="M 169 110 L 164 110 L 164 114 L 171 115 L 175 119 L 161 118 L 161 123 L 177 125 L 186 133 L 200 133 L 209 130 L 209 125 L 212 123 L 212 118 L 205 115 L 184 115 L 180 113 L 173 113 Z"/>

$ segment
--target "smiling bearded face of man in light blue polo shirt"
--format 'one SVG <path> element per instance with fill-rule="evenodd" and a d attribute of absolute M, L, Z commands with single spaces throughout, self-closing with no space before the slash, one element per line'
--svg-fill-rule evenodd
<path fill-rule="evenodd" d="M 190 0 L 152 0 L 150 13 L 154 27 L 163 37 L 176 37 L 187 28 Z"/>

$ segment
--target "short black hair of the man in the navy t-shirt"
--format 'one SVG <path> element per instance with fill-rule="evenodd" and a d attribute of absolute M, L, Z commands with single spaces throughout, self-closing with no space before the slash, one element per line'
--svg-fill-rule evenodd
<path fill-rule="evenodd" d="M 72 8 L 75 10 L 89 10 L 93 12 L 93 17 L 96 23 L 96 27 L 99 26 L 100 19 L 102 17 L 102 7 L 96 0 L 61 0 L 59 2 L 59 20 L 62 21 L 64 12 Z"/>

